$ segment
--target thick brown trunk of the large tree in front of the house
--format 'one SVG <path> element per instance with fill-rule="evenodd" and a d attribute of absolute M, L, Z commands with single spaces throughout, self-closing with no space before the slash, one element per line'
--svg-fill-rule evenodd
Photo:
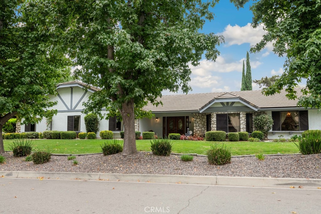
<path fill-rule="evenodd" d="M 120 114 L 124 121 L 124 149 L 123 155 L 130 155 L 137 152 L 136 138 L 135 138 L 135 115 L 134 115 L 134 101 L 122 104 Z"/>

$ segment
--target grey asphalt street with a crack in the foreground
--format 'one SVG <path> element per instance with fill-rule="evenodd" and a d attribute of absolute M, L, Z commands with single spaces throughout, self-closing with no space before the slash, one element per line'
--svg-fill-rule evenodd
<path fill-rule="evenodd" d="M 0 178 L 0 213 L 320 213 L 317 187 Z"/>

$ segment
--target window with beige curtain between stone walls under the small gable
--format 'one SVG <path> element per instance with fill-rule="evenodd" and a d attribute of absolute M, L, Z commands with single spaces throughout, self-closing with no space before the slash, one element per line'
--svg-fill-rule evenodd
<path fill-rule="evenodd" d="M 239 132 L 240 114 L 216 114 L 216 130 L 224 132 Z"/>

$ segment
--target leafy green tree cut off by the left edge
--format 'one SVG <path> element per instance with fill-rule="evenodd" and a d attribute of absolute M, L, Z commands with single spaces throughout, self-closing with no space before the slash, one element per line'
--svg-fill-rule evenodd
<path fill-rule="evenodd" d="M 66 76 L 68 64 L 56 52 L 48 29 L 39 29 L 25 13 L 25 1 L 0 1 L 0 130 L 13 116 L 39 122 L 52 115 L 55 82 Z M 26 3 L 28 4 L 28 3 Z M 4 153 L 0 131 L 0 153 Z"/>

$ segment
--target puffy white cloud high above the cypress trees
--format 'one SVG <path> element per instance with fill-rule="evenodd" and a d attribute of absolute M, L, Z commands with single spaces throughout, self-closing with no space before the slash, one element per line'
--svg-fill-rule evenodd
<path fill-rule="evenodd" d="M 225 27 L 223 32 L 217 34 L 224 36 L 227 46 L 241 45 L 244 43 L 249 43 L 252 46 L 260 42 L 266 32 L 267 31 L 263 29 L 263 24 L 260 24 L 256 28 L 253 28 L 250 23 L 247 23 L 247 25 L 242 27 L 237 24 L 234 26 L 231 26 L 229 24 Z M 272 51 L 273 43 L 268 42 L 265 48 L 269 51 Z"/>

